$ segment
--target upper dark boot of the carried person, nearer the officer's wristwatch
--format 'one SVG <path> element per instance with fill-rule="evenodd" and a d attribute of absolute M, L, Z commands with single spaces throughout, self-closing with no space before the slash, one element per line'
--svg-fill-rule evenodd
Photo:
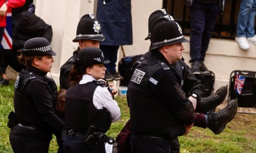
<path fill-rule="evenodd" d="M 207 113 L 210 110 L 215 111 L 216 107 L 225 100 L 228 93 L 227 88 L 227 85 L 222 86 L 217 89 L 215 94 L 208 97 L 202 97 L 198 100 L 196 111 L 201 113 Z"/>

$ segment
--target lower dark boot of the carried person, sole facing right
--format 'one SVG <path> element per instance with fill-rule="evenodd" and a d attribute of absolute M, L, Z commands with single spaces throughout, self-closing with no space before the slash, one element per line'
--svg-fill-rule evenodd
<path fill-rule="evenodd" d="M 230 122 L 236 114 L 238 108 L 237 100 L 231 100 L 227 106 L 218 112 L 209 111 L 208 112 L 208 128 L 212 130 L 213 133 L 220 134 L 226 124 Z"/>

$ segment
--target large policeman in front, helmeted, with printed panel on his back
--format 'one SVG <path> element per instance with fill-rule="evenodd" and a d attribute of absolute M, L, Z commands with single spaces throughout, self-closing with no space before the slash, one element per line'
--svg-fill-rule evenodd
<path fill-rule="evenodd" d="M 137 65 L 128 85 L 132 152 L 179 152 L 178 137 L 193 126 L 196 100 L 187 99 L 174 69 L 182 59 L 182 35 L 177 22 L 160 18 L 152 24 L 151 54 Z M 236 101 L 225 111 L 234 117 Z"/>

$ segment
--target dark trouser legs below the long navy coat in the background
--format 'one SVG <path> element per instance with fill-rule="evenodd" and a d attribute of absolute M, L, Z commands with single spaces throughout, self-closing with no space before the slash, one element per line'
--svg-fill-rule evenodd
<path fill-rule="evenodd" d="M 116 72 L 117 51 L 119 46 L 100 45 L 100 49 L 102 50 L 105 59 L 110 61 L 109 64 L 105 64 L 106 70 Z"/>

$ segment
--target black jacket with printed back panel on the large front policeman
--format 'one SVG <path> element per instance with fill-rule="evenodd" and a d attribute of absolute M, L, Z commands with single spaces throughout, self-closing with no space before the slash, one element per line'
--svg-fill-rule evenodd
<path fill-rule="evenodd" d="M 194 121 L 192 103 L 181 89 L 181 77 L 153 50 L 137 66 L 128 85 L 131 129 L 135 134 L 175 138 Z"/>

